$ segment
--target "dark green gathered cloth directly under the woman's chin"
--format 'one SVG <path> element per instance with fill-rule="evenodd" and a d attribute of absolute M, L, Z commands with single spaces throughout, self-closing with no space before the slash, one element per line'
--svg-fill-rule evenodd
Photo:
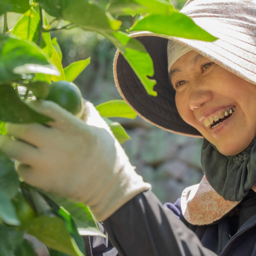
<path fill-rule="evenodd" d="M 241 153 L 224 156 L 203 139 L 201 165 L 207 181 L 225 200 L 240 201 L 256 181 L 256 138 Z"/>

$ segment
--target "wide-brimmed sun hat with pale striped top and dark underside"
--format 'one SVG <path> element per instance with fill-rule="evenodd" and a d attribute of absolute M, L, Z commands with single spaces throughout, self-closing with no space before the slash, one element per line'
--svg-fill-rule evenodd
<path fill-rule="evenodd" d="M 175 90 L 168 79 L 167 42 L 169 39 L 179 42 L 256 84 L 256 3 L 253 0 L 189 0 L 181 12 L 219 39 L 206 42 L 150 32 L 135 33 L 131 36 L 136 37 L 152 57 L 157 96 L 147 94 L 119 51 L 114 59 L 114 78 L 123 99 L 143 119 L 169 132 L 202 137 L 183 121 L 176 108 Z"/>

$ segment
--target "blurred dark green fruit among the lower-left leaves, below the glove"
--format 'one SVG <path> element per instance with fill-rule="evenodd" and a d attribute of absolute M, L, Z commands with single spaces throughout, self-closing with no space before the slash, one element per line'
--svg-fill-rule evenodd
<path fill-rule="evenodd" d="M 12 202 L 15 206 L 18 219 L 22 224 L 34 219 L 37 216 L 36 212 L 29 205 L 22 193 L 18 192 L 18 194 L 12 199 Z"/>

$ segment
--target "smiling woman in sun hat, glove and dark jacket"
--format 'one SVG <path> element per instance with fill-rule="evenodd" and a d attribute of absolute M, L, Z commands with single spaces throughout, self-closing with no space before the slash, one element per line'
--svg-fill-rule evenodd
<path fill-rule="evenodd" d="M 256 255 L 255 7 L 253 1 L 189 0 L 182 12 L 217 36 L 215 42 L 137 34 L 154 61 L 157 97 L 145 93 L 116 55 L 117 87 L 140 116 L 204 137 L 205 176 L 175 204 L 161 205 L 89 102 L 83 121 L 40 101 L 32 106 L 55 120 L 50 127 L 7 125 L 22 141 L 1 136 L 0 148 L 17 159 L 20 177 L 88 204 L 103 222 L 112 244 L 86 239 L 88 255 Z"/>

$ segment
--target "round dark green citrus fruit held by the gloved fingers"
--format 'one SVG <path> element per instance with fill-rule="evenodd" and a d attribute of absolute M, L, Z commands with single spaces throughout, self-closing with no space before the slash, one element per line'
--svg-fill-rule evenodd
<path fill-rule="evenodd" d="M 45 100 L 51 100 L 75 116 L 81 116 L 83 99 L 79 88 L 68 81 L 57 81 L 50 84 L 50 92 Z"/>

